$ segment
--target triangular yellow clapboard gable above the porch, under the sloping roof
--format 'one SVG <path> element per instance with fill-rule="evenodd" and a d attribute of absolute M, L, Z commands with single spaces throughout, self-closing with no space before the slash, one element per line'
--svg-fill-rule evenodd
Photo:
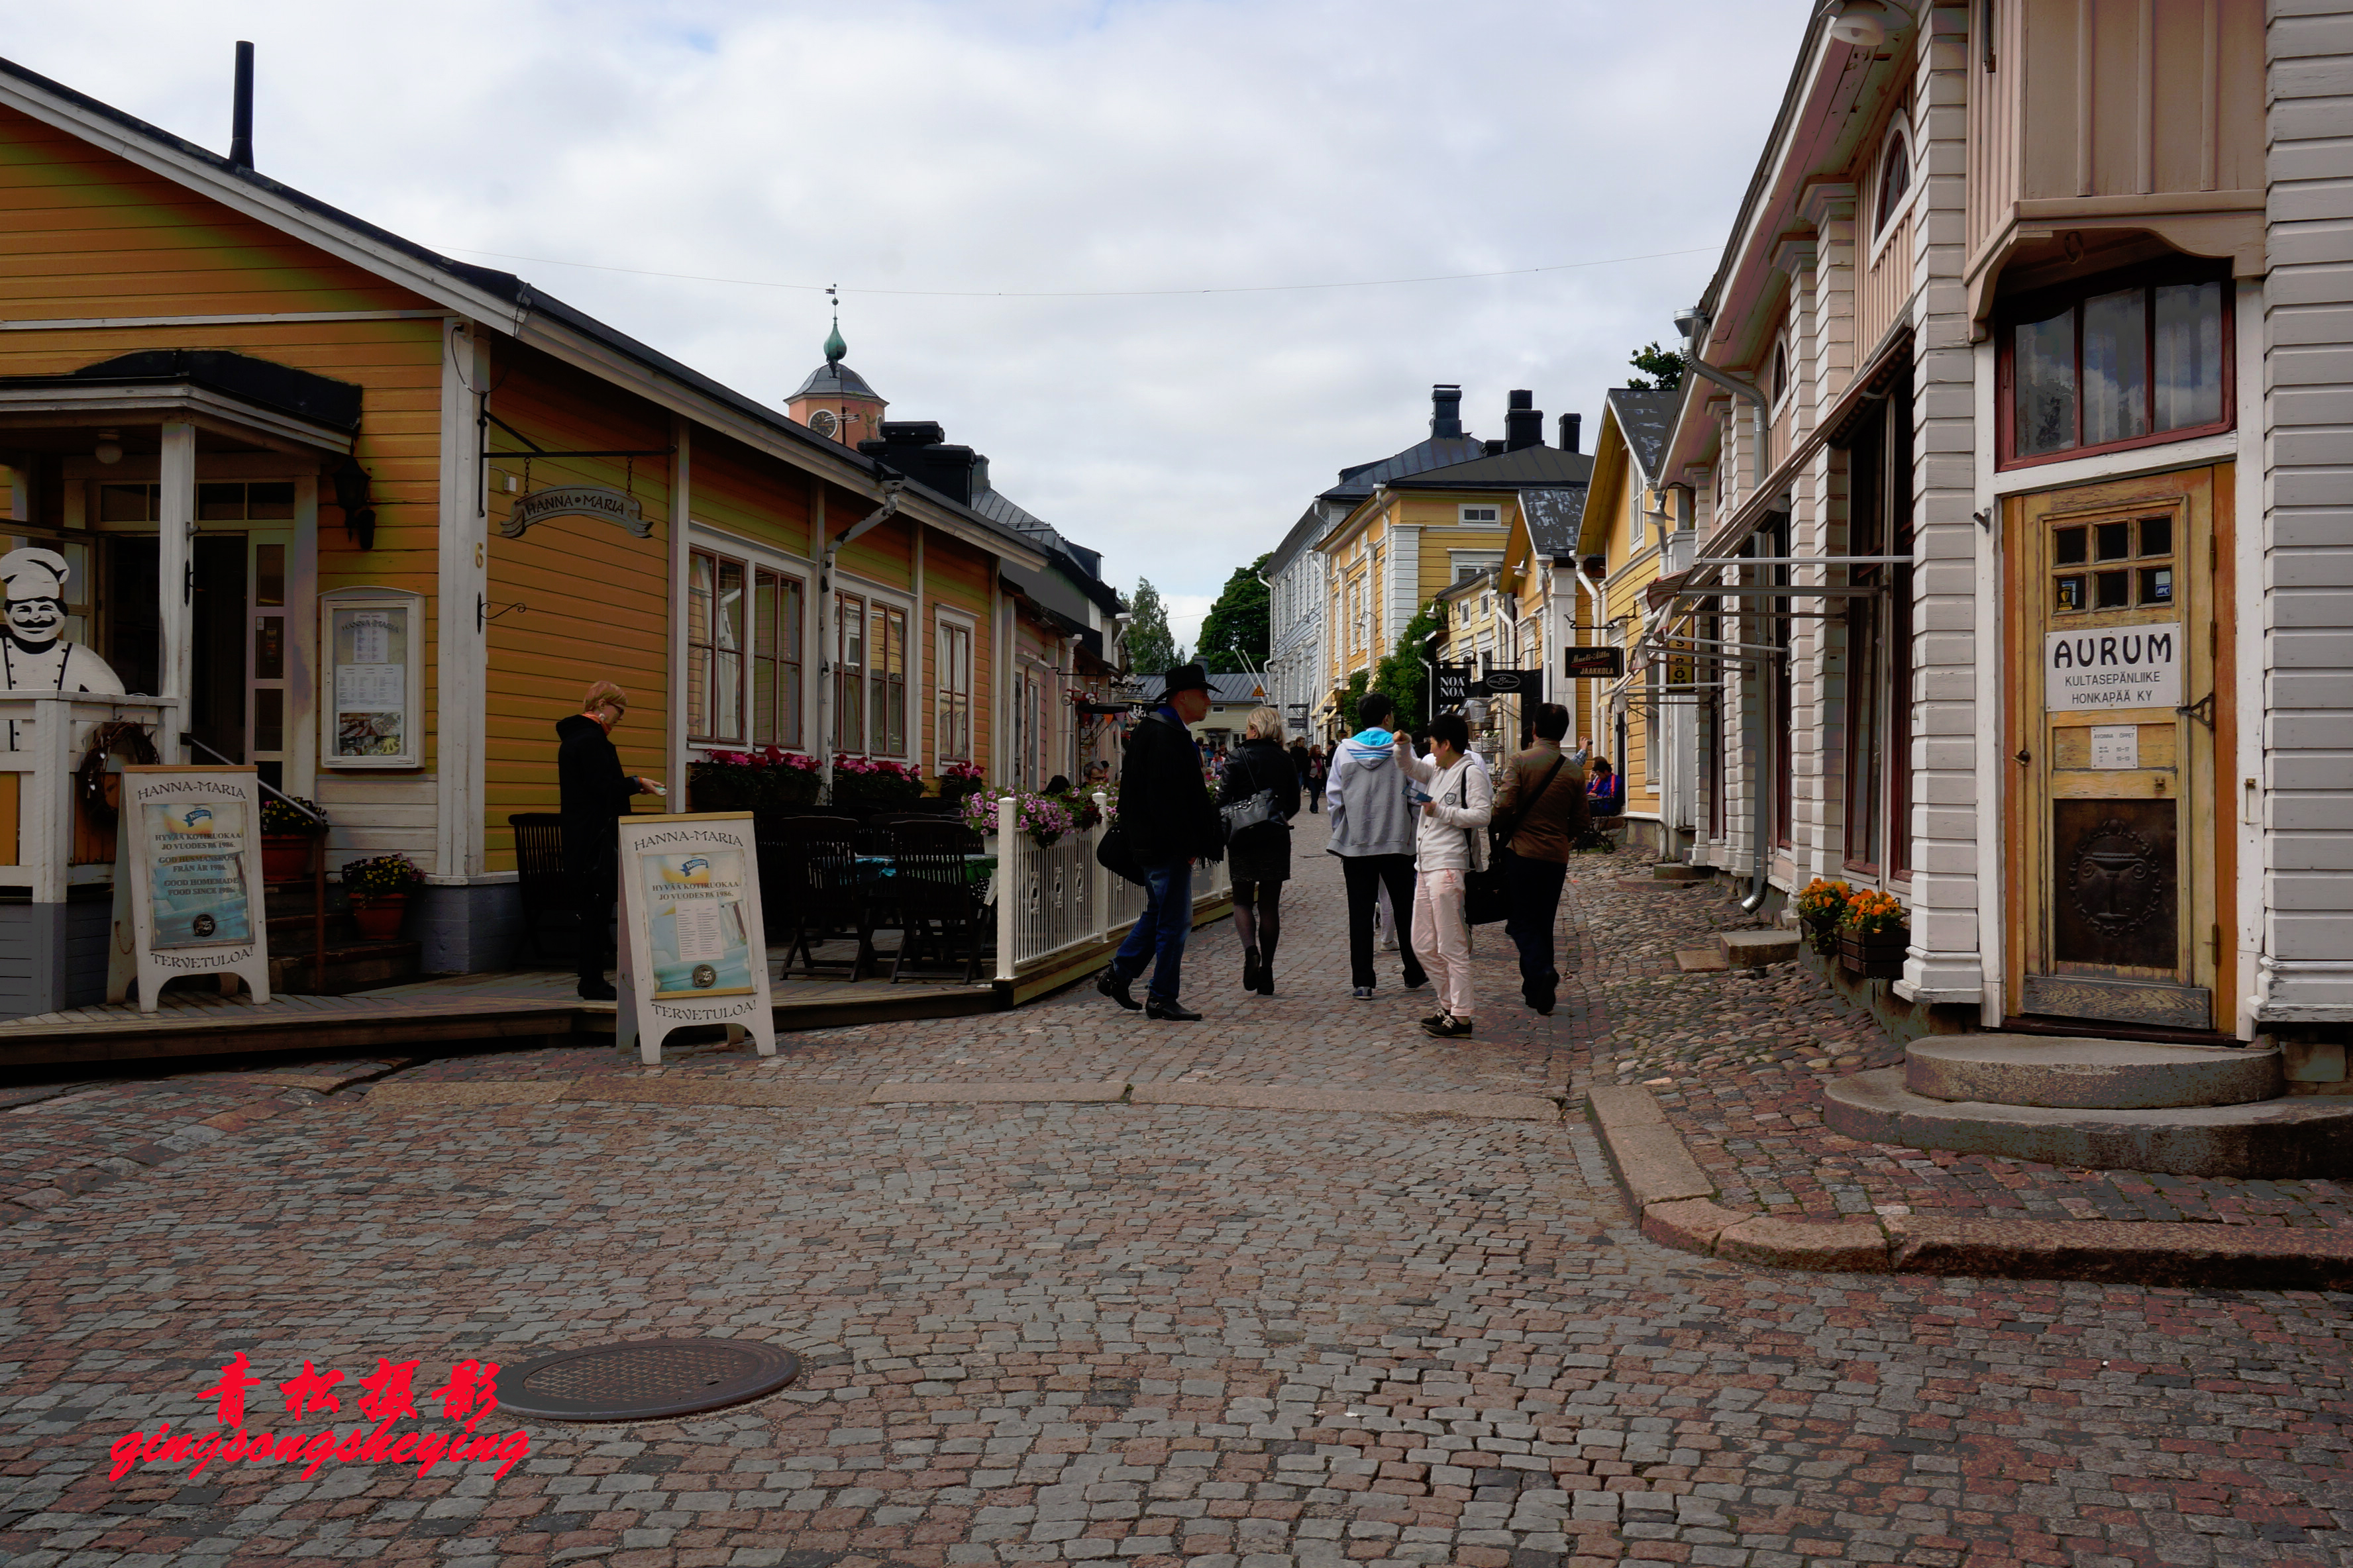
<path fill-rule="evenodd" d="M 414 310 L 407 289 L 0 108 L 9 320 Z"/>

